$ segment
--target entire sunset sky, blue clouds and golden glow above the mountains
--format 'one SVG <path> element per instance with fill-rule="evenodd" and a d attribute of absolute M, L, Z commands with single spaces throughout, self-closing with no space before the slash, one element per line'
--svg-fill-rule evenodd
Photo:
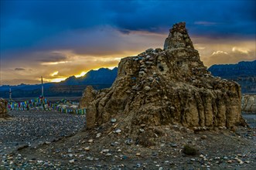
<path fill-rule="evenodd" d="M 256 1 L 0 1 L 0 85 L 57 82 L 163 48 L 186 22 L 205 66 L 254 60 Z"/>

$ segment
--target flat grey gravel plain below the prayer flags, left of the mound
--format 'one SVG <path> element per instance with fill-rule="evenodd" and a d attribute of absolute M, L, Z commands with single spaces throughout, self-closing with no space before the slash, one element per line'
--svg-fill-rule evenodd
<path fill-rule="evenodd" d="M 0 120 L 0 155 L 75 134 L 85 123 L 84 115 L 54 110 L 12 110 L 9 114 L 9 120 Z"/>

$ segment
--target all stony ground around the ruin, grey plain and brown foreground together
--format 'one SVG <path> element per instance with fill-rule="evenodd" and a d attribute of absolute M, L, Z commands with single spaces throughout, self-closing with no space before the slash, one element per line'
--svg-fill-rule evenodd
<path fill-rule="evenodd" d="M 251 128 L 194 132 L 176 125 L 162 128 L 148 148 L 128 134 L 108 133 L 115 124 L 81 131 L 85 116 L 45 111 L 11 111 L 0 120 L 0 169 L 255 169 L 254 115 Z M 118 121 L 117 121 L 118 122 Z M 134 140 L 135 141 L 135 140 Z M 185 155 L 183 146 L 197 148 Z"/>

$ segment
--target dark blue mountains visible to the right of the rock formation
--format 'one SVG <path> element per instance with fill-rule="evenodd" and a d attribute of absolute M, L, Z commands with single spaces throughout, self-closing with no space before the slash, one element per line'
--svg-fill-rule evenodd
<path fill-rule="evenodd" d="M 220 76 L 239 83 L 242 93 L 256 93 L 256 60 L 213 65 L 208 70 L 213 76 Z"/>

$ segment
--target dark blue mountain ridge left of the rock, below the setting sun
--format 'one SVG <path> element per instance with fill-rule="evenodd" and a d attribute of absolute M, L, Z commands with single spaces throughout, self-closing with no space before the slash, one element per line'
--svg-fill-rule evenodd
<path fill-rule="evenodd" d="M 113 70 L 101 68 L 90 70 L 81 77 L 70 76 L 60 83 L 44 83 L 44 96 L 46 97 L 77 97 L 82 96 L 84 89 L 91 85 L 94 89 L 111 87 L 118 75 L 118 68 Z M 5 85 L 0 87 L 0 97 L 9 98 L 9 88 L 12 88 L 12 97 L 38 97 L 41 94 L 41 84 L 20 84 L 17 86 Z"/>

